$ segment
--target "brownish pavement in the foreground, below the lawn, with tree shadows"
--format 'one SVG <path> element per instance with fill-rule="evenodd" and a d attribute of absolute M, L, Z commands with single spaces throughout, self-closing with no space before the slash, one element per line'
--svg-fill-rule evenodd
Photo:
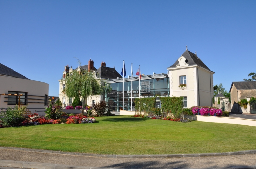
<path fill-rule="evenodd" d="M 54 154 L 11 149 L 0 149 L 0 166 L 16 163 L 24 167 L 37 169 L 96 169 L 96 168 L 255 168 L 256 154 L 182 157 L 182 158 L 102 158 L 85 155 Z M 6 161 L 11 160 L 11 161 Z M 24 163 L 25 162 L 25 163 Z M 5 165 L 4 165 L 5 164 Z M 25 165 L 24 165 L 25 164 Z M 68 165 L 68 166 L 63 166 Z M 30 167 L 29 167 L 30 166 Z M 32 166 L 32 167 L 31 167 Z M 84 167 L 76 167 L 84 166 Z"/>

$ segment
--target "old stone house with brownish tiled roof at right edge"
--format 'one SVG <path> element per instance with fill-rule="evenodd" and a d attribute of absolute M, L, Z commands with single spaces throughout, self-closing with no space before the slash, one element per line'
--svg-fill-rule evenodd
<path fill-rule="evenodd" d="M 230 87 L 231 112 L 250 113 L 250 105 L 246 109 L 242 108 L 238 102 L 242 99 L 249 101 L 252 97 L 256 98 L 256 81 L 232 82 Z"/>

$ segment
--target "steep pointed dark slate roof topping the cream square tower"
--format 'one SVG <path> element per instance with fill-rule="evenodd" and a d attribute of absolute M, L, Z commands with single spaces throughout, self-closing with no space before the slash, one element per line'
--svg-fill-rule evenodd
<path fill-rule="evenodd" d="M 200 67 L 203 67 L 203 68 L 205 68 L 205 69 L 211 71 L 211 70 L 202 62 L 202 60 L 201 60 L 200 58 L 198 58 L 198 56 L 196 56 L 196 54 L 194 54 L 194 53 L 192 53 L 192 52 L 186 50 L 186 51 L 182 54 L 182 56 L 184 56 L 184 57 L 186 58 L 186 60 L 187 60 L 186 63 L 189 64 L 189 66 L 198 65 L 198 66 L 200 66 Z M 176 62 L 175 62 L 173 65 L 171 65 L 170 67 L 168 67 L 168 68 L 175 68 L 175 66 L 178 65 L 178 63 L 179 63 L 179 61 L 178 61 L 178 59 L 177 59 Z M 167 68 L 167 69 L 168 69 L 168 68 Z M 211 71 L 211 72 L 213 72 L 213 71 Z"/>

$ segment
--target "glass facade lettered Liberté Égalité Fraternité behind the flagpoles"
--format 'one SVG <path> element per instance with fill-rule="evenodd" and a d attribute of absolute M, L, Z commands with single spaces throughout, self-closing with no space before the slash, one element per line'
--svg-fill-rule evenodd
<path fill-rule="evenodd" d="M 139 98 L 139 80 L 136 81 L 124 81 L 124 108 L 123 108 L 123 82 L 110 83 L 112 90 L 107 91 L 104 94 L 104 99 L 106 102 L 112 102 L 112 110 L 131 110 L 135 106 L 134 98 Z M 133 88 L 133 89 L 132 89 Z M 131 95 L 132 90 L 132 95 Z M 169 96 L 169 78 L 157 78 L 157 79 L 147 79 L 140 80 L 140 96 L 141 97 L 155 97 L 159 96 Z M 132 100 L 131 100 L 132 96 Z"/>

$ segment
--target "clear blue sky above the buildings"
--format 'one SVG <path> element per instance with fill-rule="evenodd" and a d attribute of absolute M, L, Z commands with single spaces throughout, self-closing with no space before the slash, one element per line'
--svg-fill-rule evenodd
<path fill-rule="evenodd" d="M 256 72 L 256 1 L 1 0 L 0 63 L 49 84 L 58 96 L 66 65 L 94 61 L 127 76 L 167 73 L 186 50 L 215 72 L 214 85 Z"/>

